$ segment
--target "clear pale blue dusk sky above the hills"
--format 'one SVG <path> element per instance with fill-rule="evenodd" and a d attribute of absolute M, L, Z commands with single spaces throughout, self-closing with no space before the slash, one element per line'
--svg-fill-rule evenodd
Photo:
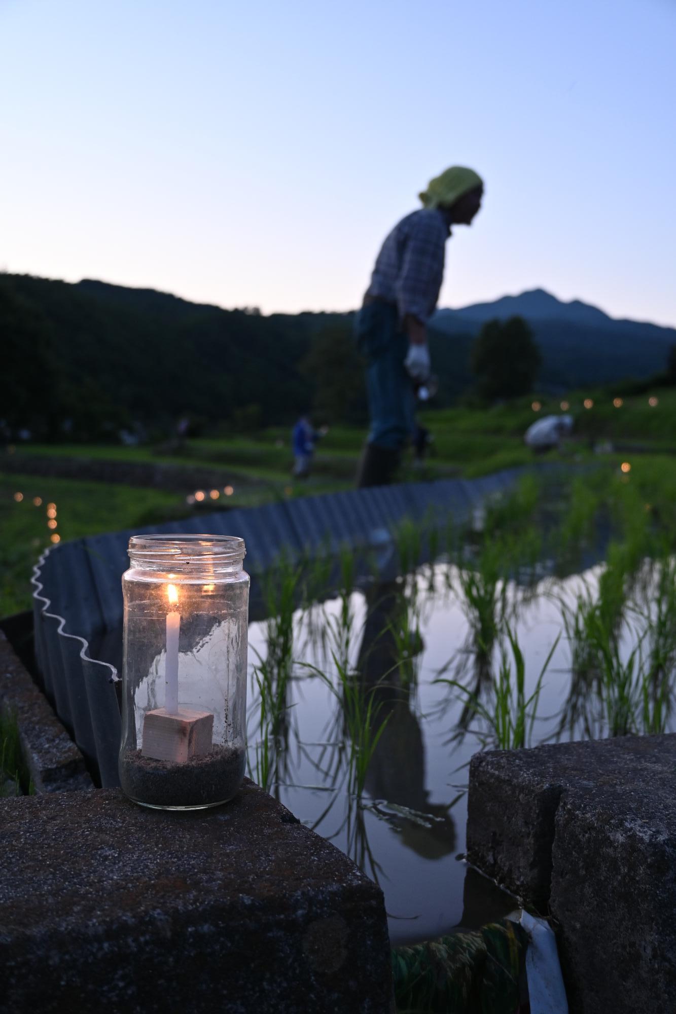
<path fill-rule="evenodd" d="M 447 165 L 442 305 L 676 324 L 675 0 L 0 0 L 0 268 L 346 309 Z"/>

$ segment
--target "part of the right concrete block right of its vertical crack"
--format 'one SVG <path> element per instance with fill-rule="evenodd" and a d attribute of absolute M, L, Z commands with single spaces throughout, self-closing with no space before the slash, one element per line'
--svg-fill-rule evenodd
<path fill-rule="evenodd" d="M 665 759 L 667 759 L 665 757 Z M 676 769 L 561 797 L 549 908 L 569 1007 L 676 1011 Z"/>

